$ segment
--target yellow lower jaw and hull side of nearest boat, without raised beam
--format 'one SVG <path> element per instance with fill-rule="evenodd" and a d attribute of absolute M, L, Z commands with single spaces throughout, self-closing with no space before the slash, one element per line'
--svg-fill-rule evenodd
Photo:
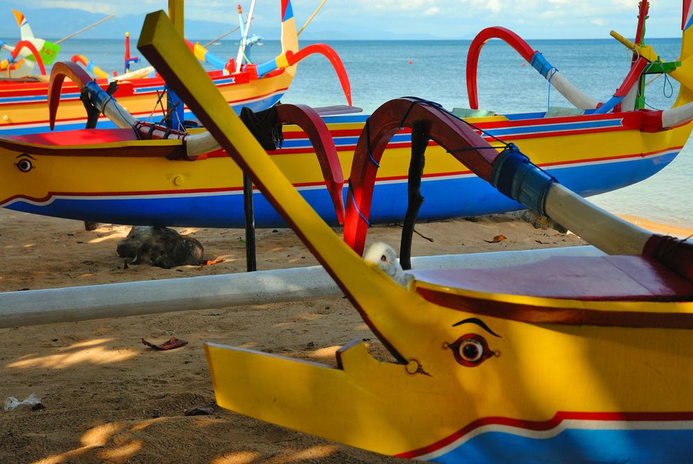
<path fill-rule="evenodd" d="M 693 339 L 687 330 L 531 325 L 484 317 L 500 338 L 472 324 L 473 313 L 414 312 L 411 356 L 425 373 L 376 361 L 360 345 L 343 370 L 207 343 L 216 401 L 232 411 L 330 440 L 398 454 L 431 445 L 481 418 L 547 421 L 559 411 L 693 411 Z M 497 356 L 468 368 L 450 344 L 484 336 Z M 395 335 L 400 341 L 400 337 Z"/>

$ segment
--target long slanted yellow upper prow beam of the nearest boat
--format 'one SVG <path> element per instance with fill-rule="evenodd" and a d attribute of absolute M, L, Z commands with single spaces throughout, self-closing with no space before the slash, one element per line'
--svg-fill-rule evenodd
<path fill-rule="evenodd" d="M 375 266 L 366 264 L 334 234 L 266 155 L 255 137 L 216 90 L 162 12 L 145 19 L 138 48 L 198 115 L 229 155 L 292 224 L 330 275 L 357 307 L 379 304 L 387 294 L 404 304 L 406 292 Z M 199 114 L 198 114 L 199 113 Z M 209 115 L 213 115 L 210 117 Z"/>

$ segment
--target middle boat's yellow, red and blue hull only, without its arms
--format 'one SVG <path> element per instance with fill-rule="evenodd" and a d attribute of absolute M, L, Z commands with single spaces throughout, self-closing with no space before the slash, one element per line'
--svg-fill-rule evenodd
<path fill-rule="evenodd" d="M 532 116 L 468 121 L 513 142 L 533 162 L 583 196 L 626 187 L 657 173 L 674 160 L 693 128 L 693 123 L 688 123 L 669 130 L 644 132 L 640 112 Z M 334 138 L 344 178 L 348 178 L 366 117 L 324 119 Z M 284 126 L 284 137 L 283 148 L 270 153 L 273 160 L 318 214 L 336 225 L 332 200 L 305 132 L 296 126 Z M 490 137 L 486 139 L 493 142 Z M 241 170 L 225 153 L 218 151 L 194 161 L 168 160 L 154 153 L 137 157 L 107 154 L 109 147 L 125 141 L 127 138 L 123 139 L 120 130 L 5 137 L 0 140 L 0 205 L 33 214 L 103 223 L 243 226 Z M 83 144 L 92 148 L 87 150 Z M 78 153 L 71 152 L 71 148 L 79 148 Z M 22 172 L 16 166 L 23 153 L 32 157 L 31 171 Z M 404 218 L 410 157 L 411 132 L 402 130 L 393 137 L 380 163 L 371 223 Z M 425 197 L 419 214 L 422 220 L 522 208 L 432 143 L 427 151 L 421 193 Z M 344 194 L 346 197 L 346 186 Z M 284 226 L 262 194 L 255 190 L 254 196 L 256 226 Z M 451 198 L 456 201 L 450 201 Z M 349 201 L 345 198 L 345 204 Z"/>

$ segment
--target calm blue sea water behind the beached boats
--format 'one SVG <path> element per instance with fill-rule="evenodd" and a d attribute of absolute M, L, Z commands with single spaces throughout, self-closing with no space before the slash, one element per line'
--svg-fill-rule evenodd
<path fill-rule="evenodd" d="M 678 57 L 678 39 L 652 39 L 649 43 L 663 60 Z M 606 101 L 617 89 L 631 59 L 624 46 L 611 39 L 535 40 L 529 44 L 583 92 L 599 101 Z M 364 112 L 372 112 L 385 101 L 400 96 L 419 96 L 448 109 L 468 108 L 465 60 L 470 41 L 336 41 L 330 45 L 341 56 L 349 74 L 354 105 Z M 235 57 L 237 53 L 234 41 L 208 48 L 220 57 Z M 251 57 L 262 62 L 279 51 L 279 42 L 266 41 L 253 47 Z M 76 53 L 87 56 L 105 71 L 123 71 L 121 40 L 68 40 L 60 58 L 67 60 Z M 133 40 L 132 55 L 137 54 Z M 142 65 L 145 64 L 135 67 Z M 548 105 L 570 106 L 558 92 L 549 92 L 546 80 L 531 66 L 524 65 L 524 60 L 503 42 L 492 41 L 484 46 L 478 74 L 482 109 L 515 113 L 542 111 Z M 662 77 L 647 87 L 647 101 L 652 108 L 669 108 L 677 92 L 676 81 Z M 314 55 L 300 63 L 283 101 L 323 106 L 343 104 L 345 98 L 330 63 L 323 56 Z M 631 187 L 592 197 L 592 201 L 616 214 L 693 227 L 692 187 L 693 144 L 689 143 L 660 173 Z"/>

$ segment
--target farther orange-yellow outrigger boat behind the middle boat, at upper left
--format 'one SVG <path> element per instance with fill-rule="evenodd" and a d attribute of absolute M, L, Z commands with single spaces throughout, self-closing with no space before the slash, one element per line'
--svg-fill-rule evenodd
<path fill-rule="evenodd" d="M 233 59 L 222 60 L 200 44 L 192 44 L 187 41 L 187 46 L 194 51 L 200 61 L 217 68 L 214 71 L 209 71 L 209 77 L 214 80 L 229 105 L 238 112 L 243 107 L 248 107 L 254 111 L 265 110 L 277 103 L 289 89 L 293 76 L 296 74 L 297 63 L 314 53 L 325 55 L 332 62 L 344 89 L 347 102 L 351 105 L 349 80 L 339 55 L 325 44 L 311 44 L 299 49 L 291 1 L 282 0 L 281 3 L 282 53 L 274 60 L 260 64 L 243 64 L 240 69 L 237 69 L 237 63 Z M 21 21 L 22 27 L 28 28 L 23 16 Z M 19 17 L 17 17 L 17 22 L 20 22 Z M 29 46 L 34 48 L 28 40 L 22 40 L 20 43 L 24 45 L 15 47 L 18 53 L 19 50 L 22 50 L 22 53 L 30 51 L 26 48 Z M 38 57 L 35 61 L 42 71 L 42 76 L 0 79 L 0 135 L 31 135 L 51 130 L 49 120 L 46 118 L 49 78 L 44 75 L 45 68 L 40 53 L 36 51 L 31 56 L 34 55 Z M 137 69 L 115 78 L 108 78 L 104 71 L 96 69 L 87 58 L 80 55 L 73 58 L 76 62 L 82 63 L 90 71 L 96 71 L 101 76 L 96 82 L 103 89 L 106 89 L 109 83 L 116 82 L 117 89 L 114 91 L 114 96 L 137 119 L 151 119 L 154 113 L 159 114 L 157 107 L 163 108 L 166 103 L 166 98 L 164 98 L 163 105 L 160 103 L 166 83 L 160 76 L 149 76 L 153 74 L 152 69 Z M 85 117 L 83 103 L 80 101 L 78 87 L 65 86 L 61 98 L 63 104 L 60 106 L 58 114 L 55 115 L 54 128 L 57 130 L 85 128 L 87 117 Z M 160 119 L 160 117 L 156 119 Z M 178 119 L 180 121 L 173 124 L 175 128 L 179 128 L 184 121 L 194 121 L 194 114 L 189 109 L 183 108 L 183 111 L 178 114 Z M 99 127 L 114 128 L 114 125 L 107 118 L 101 117 L 99 118 Z"/>

